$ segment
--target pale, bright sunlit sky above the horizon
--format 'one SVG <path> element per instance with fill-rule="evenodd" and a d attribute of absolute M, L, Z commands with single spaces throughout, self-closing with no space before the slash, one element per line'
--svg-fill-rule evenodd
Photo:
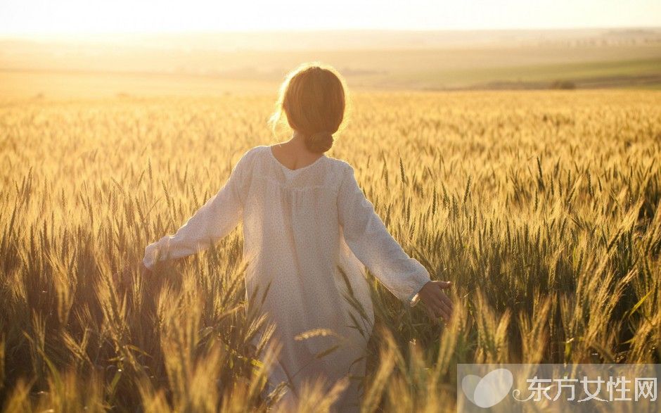
<path fill-rule="evenodd" d="M 659 27 L 661 0 L 1 0 L 0 34 Z"/>

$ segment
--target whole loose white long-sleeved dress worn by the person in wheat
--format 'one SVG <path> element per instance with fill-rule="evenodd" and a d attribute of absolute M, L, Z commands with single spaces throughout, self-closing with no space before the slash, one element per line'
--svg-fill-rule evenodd
<path fill-rule="evenodd" d="M 147 246 L 143 263 L 151 268 L 156 260 L 203 250 L 241 220 L 247 298 L 259 288 L 257 303 L 248 305 L 258 305 L 273 281 L 261 307 L 282 345 L 271 388 L 286 381 L 297 390 L 318 376 L 330 386 L 343 376 L 364 375 L 361 357 L 374 317 L 365 267 L 408 305 L 430 281 L 425 267 L 390 236 L 349 163 L 322 155 L 289 170 L 270 146 L 245 152 L 226 184 L 176 234 Z M 295 339 L 313 329 L 333 333 Z M 359 381 L 350 382 L 335 405 L 342 412 L 358 410 Z"/>

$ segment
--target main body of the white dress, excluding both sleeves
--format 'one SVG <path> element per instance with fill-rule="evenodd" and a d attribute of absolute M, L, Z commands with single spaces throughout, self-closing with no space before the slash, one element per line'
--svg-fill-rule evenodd
<path fill-rule="evenodd" d="M 299 386 L 316 376 L 333 382 L 347 374 L 364 374 L 364 365 L 354 362 L 364 355 L 373 312 L 361 264 L 347 248 L 340 226 L 338 195 L 348 164 L 322 155 L 292 171 L 269 146 L 253 148 L 246 156 L 246 293 L 248 298 L 257 295 L 255 305 L 274 322 L 274 338 L 283 346 L 271 382 L 291 380 Z M 347 274 L 366 319 L 345 299 L 349 289 L 338 266 Z M 267 286 L 262 303 L 260 292 Z M 362 333 L 352 328 L 354 322 Z M 319 329 L 333 334 L 295 339 Z M 319 358 L 335 345 L 340 348 Z M 345 397 L 356 399 L 356 392 Z"/>

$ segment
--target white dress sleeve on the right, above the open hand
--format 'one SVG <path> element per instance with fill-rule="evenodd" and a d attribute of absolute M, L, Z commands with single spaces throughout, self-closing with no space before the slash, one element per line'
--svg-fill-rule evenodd
<path fill-rule="evenodd" d="M 345 241 L 354 255 L 397 298 L 416 305 L 418 291 L 430 281 L 429 272 L 392 238 L 348 164 L 338 193 L 338 215 Z"/>

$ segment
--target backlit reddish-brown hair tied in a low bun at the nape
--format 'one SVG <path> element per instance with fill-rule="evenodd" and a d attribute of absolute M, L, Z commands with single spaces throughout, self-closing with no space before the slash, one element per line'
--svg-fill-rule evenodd
<path fill-rule="evenodd" d="M 307 148 L 323 153 L 333 146 L 333 134 L 346 119 L 347 106 L 345 81 L 337 70 L 318 62 L 303 63 L 281 84 L 269 124 L 276 134 L 284 112 L 289 126 L 304 135 Z"/>

